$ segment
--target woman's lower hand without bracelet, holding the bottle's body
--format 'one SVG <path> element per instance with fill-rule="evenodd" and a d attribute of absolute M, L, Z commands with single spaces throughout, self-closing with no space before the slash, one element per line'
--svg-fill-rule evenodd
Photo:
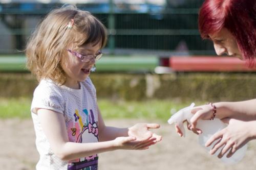
<path fill-rule="evenodd" d="M 212 135 L 209 140 L 205 143 L 206 147 L 209 147 L 214 141 L 218 142 L 211 148 L 210 154 L 215 154 L 218 149 L 224 148 L 218 154 L 219 158 L 230 151 L 227 157 L 231 157 L 238 149 L 242 148 L 249 140 L 252 140 L 255 135 L 256 121 L 244 122 L 242 120 L 225 118 L 222 119 L 228 126 L 221 131 Z"/>

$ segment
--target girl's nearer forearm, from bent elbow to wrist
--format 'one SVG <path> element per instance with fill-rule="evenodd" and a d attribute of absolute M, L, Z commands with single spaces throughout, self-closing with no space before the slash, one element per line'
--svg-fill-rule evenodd
<path fill-rule="evenodd" d="M 61 160 L 74 160 L 82 157 L 92 156 L 95 154 L 114 151 L 118 148 L 115 146 L 113 140 L 104 142 L 93 143 L 76 143 L 66 142 L 62 147 L 58 147 L 59 151 L 56 151 L 56 156 Z"/>

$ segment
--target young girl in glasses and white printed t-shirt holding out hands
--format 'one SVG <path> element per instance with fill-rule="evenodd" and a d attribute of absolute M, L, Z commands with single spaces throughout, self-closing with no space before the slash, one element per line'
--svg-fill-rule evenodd
<path fill-rule="evenodd" d="M 36 169 L 97 169 L 98 153 L 144 150 L 161 140 L 148 130 L 158 124 L 104 125 L 89 75 L 105 42 L 102 23 L 74 6 L 50 12 L 30 38 L 27 67 L 39 81 L 31 106 Z"/>

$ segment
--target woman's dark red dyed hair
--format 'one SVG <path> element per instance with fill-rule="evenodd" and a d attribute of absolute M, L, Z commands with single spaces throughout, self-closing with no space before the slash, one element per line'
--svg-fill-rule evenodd
<path fill-rule="evenodd" d="M 199 12 L 199 31 L 202 38 L 228 29 L 236 38 L 239 50 L 249 66 L 256 57 L 256 1 L 206 0 Z"/>

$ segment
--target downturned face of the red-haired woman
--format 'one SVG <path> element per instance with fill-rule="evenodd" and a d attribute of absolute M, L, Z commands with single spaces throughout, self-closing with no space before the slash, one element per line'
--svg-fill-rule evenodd
<path fill-rule="evenodd" d="M 218 33 L 209 34 L 209 37 L 214 42 L 218 56 L 226 54 L 243 60 L 236 39 L 226 28 L 221 29 Z"/>

